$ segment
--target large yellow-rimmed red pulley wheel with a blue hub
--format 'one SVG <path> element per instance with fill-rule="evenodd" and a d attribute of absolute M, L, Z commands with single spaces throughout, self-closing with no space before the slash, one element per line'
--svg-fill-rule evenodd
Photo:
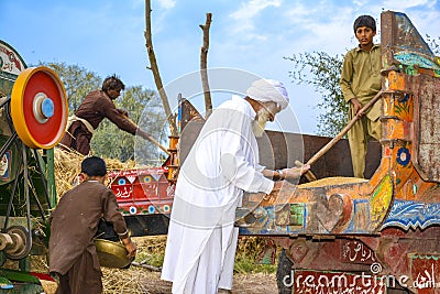
<path fill-rule="evenodd" d="M 20 73 L 11 94 L 11 117 L 20 139 L 29 148 L 51 149 L 66 129 L 66 91 L 51 68 L 30 67 Z"/>

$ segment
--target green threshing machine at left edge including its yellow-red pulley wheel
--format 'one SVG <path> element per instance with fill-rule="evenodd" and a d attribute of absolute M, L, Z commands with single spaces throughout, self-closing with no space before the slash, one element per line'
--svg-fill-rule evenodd
<path fill-rule="evenodd" d="M 29 274 L 29 254 L 46 248 L 44 224 L 56 205 L 53 148 L 67 123 L 63 83 L 46 67 L 26 68 L 0 41 L 0 292 L 41 293 L 44 274 Z M 13 266 L 12 266 L 13 268 Z M 11 287 L 13 290 L 3 290 Z M 10 292 L 12 293 L 12 292 Z"/>

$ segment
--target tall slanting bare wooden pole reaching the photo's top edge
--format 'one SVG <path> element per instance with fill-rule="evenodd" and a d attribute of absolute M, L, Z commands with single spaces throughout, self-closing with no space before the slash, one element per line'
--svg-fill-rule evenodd
<path fill-rule="evenodd" d="M 145 46 L 146 46 L 146 52 L 148 53 L 148 58 L 150 58 L 150 67 L 153 72 L 153 77 L 154 77 L 154 83 L 156 84 L 157 91 L 161 96 L 162 104 L 165 109 L 165 115 L 167 117 L 168 123 L 169 123 L 169 131 L 172 135 L 177 135 L 177 126 L 176 126 L 176 116 L 172 113 L 172 109 L 169 107 L 168 102 L 168 97 L 165 92 L 164 86 L 162 84 L 162 78 L 158 72 L 158 66 L 156 62 L 156 56 L 154 54 L 153 50 L 153 40 L 152 40 L 152 30 L 151 30 L 151 1 L 145 0 Z"/>

